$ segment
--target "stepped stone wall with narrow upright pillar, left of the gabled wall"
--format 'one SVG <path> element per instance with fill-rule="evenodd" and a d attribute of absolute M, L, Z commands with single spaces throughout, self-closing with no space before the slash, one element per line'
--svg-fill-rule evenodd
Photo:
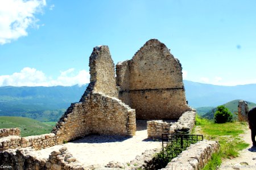
<path fill-rule="evenodd" d="M 108 46 L 93 48 L 90 56 L 90 84 L 80 103 L 71 104 L 53 128 L 63 141 L 85 135 L 135 135 L 135 110 L 117 99 L 114 63 Z"/>

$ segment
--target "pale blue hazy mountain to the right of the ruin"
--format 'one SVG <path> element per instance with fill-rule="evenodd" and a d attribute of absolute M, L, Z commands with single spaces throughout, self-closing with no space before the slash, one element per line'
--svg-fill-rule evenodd
<path fill-rule="evenodd" d="M 256 103 L 256 84 L 216 86 L 184 80 L 188 104 L 193 108 L 216 107 L 234 99 Z"/>

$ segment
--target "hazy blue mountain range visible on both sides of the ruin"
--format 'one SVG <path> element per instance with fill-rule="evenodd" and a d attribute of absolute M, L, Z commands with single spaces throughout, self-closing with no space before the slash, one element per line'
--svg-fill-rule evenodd
<path fill-rule="evenodd" d="M 0 116 L 30 117 L 39 121 L 57 121 L 71 103 L 80 100 L 86 86 L 0 87 Z M 225 104 L 232 100 L 256 103 L 256 84 L 216 86 L 184 80 L 188 104 L 193 108 Z M 208 110 L 209 111 L 209 110 Z"/>

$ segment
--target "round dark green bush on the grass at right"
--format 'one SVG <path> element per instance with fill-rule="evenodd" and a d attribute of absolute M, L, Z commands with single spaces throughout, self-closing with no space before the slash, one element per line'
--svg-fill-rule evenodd
<path fill-rule="evenodd" d="M 218 106 L 216 112 L 214 113 L 214 122 L 217 124 L 231 122 L 232 118 L 233 114 L 224 105 Z"/>

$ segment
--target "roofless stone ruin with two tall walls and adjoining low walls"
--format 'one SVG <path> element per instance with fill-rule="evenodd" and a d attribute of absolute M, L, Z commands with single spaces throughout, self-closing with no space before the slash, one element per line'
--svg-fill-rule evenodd
<path fill-rule="evenodd" d="M 0 138 L 0 157 L 5 158 L 0 163 L 12 162 L 18 166 L 30 158 L 26 156 L 26 147 L 42 150 L 89 134 L 132 137 L 136 119 L 148 120 L 150 138 L 158 138 L 162 133 L 191 132 L 196 112 L 185 99 L 182 67 L 162 42 L 147 41 L 132 59 L 118 62 L 116 67 L 108 46 L 96 46 L 89 58 L 89 66 L 88 87 L 79 103 L 72 103 L 61 116 L 52 133 L 31 137 L 5 135 Z M 16 151 L 6 151 L 10 148 Z M 23 155 L 19 157 L 24 162 L 16 162 L 15 152 Z M 65 168 L 70 164 L 63 164 L 62 157 L 66 152 L 58 151 L 57 154 L 60 158 L 52 152 L 47 162 L 39 161 L 40 165 L 32 166 L 70 169 Z M 33 162 L 32 159 L 29 161 Z M 76 163 L 76 160 L 71 162 Z"/>

